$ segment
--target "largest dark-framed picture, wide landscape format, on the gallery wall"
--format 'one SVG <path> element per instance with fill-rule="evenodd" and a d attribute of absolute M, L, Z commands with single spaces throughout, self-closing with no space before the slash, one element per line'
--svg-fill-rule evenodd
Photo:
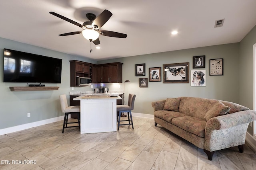
<path fill-rule="evenodd" d="M 164 83 L 189 83 L 189 63 L 164 64 Z"/>

